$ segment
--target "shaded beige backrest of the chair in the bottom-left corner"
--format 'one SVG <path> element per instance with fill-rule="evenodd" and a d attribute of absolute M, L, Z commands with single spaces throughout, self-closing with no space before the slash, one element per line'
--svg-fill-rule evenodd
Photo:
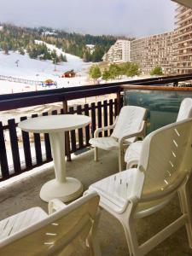
<path fill-rule="evenodd" d="M 26 230 L 1 241 L 0 252 L 8 255 L 70 255 L 88 236 L 96 217 L 99 196 L 84 195 Z"/>

